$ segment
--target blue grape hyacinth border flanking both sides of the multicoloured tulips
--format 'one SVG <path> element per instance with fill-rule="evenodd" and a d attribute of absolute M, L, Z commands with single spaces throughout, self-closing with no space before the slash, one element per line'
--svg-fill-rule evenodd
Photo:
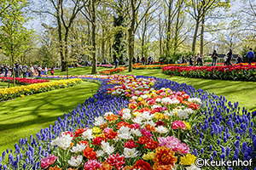
<path fill-rule="evenodd" d="M 108 79 L 99 77 L 86 77 L 86 79 L 102 82 L 101 88 L 93 97 L 86 99 L 83 105 L 74 108 L 69 114 L 64 114 L 64 118 L 59 118 L 54 126 L 50 125 L 48 128 L 42 129 L 36 137 L 20 139 L 19 144 L 15 144 L 15 150 L 4 151 L 0 158 L 2 161 L 0 167 L 40 169 L 40 160 L 43 157 L 48 157 L 52 150 L 55 150 L 49 146 L 49 143 L 60 136 L 62 132 L 74 132 L 81 127 L 91 127 L 95 117 L 102 116 L 108 111 L 113 111 L 113 114 L 117 115 L 118 111 L 125 108 L 129 102 L 119 96 L 106 94 L 108 88 L 113 88 L 114 85 L 108 84 Z M 170 88 L 172 91 L 184 91 L 190 97 L 201 99 L 203 111 L 198 113 L 200 117 L 195 120 L 193 133 L 190 133 L 193 138 L 187 143 L 190 150 L 193 150 L 194 156 L 212 160 L 255 159 L 256 111 L 247 112 L 245 108 L 239 107 L 238 102 L 231 104 L 224 96 L 208 94 L 202 89 L 195 90 L 192 86 L 184 83 L 178 84 L 166 79 L 155 79 L 155 89 Z M 91 163 L 96 165 L 96 162 Z M 252 169 L 253 167 L 256 167 L 255 161 L 253 161 L 252 167 L 246 168 Z M 232 167 L 228 168 L 233 169 Z M 244 169 L 245 167 L 234 168 Z"/>

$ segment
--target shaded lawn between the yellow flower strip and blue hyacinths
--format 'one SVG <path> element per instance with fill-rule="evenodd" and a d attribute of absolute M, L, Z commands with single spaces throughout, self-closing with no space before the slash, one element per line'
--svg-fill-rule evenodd
<path fill-rule="evenodd" d="M 82 82 L 79 86 L 0 103 L 0 153 L 14 149 L 20 138 L 29 139 L 31 134 L 35 136 L 41 128 L 54 124 L 59 116 L 63 118 L 64 112 L 83 104 L 98 88 L 96 83 Z"/>

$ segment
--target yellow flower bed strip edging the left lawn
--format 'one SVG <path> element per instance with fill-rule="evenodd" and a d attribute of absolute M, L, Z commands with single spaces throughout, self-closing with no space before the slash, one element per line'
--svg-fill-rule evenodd
<path fill-rule="evenodd" d="M 82 82 L 81 79 L 67 79 L 53 82 L 41 82 L 36 84 L 30 84 L 27 86 L 20 86 L 14 88 L 1 88 L 0 89 L 0 101 L 15 99 L 17 97 L 23 98 L 25 95 L 39 94 L 55 90 L 59 88 L 68 88 Z"/>

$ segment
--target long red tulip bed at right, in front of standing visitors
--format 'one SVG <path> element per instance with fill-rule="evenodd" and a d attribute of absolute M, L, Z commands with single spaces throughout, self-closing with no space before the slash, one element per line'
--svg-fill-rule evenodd
<path fill-rule="evenodd" d="M 236 66 L 166 66 L 163 68 L 166 75 L 180 77 L 208 78 L 236 81 L 256 81 L 255 65 Z"/>

